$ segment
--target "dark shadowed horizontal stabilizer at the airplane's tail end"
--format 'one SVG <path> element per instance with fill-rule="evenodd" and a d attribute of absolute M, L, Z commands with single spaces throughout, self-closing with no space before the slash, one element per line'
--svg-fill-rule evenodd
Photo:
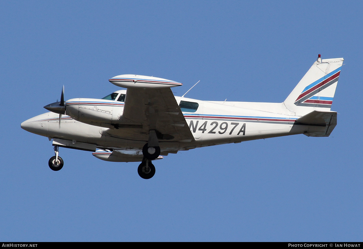
<path fill-rule="evenodd" d="M 329 136 L 337 125 L 337 112 L 312 111 L 296 120 L 298 123 L 325 126 L 323 131 L 308 132 L 307 136 Z"/>

